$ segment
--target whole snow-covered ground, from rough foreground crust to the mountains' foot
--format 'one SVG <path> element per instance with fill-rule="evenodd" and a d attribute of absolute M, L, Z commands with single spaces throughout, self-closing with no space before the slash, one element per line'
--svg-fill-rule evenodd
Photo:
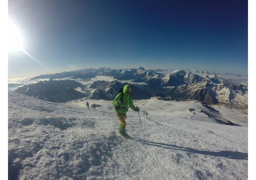
<path fill-rule="evenodd" d="M 86 101 L 101 107 L 85 109 Z M 140 107 L 146 142 L 138 113 L 130 108 L 126 131 L 131 138 L 119 136 L 111 101 L 51 103 L 9 92 L 9 178 L 248 179 L 248 114 L 244 111 L 156 98 L 134 105 Z M 143 116 L 146 112 L 148 116 Z M 220 124 L 213 117 L 235 125 Z"/>

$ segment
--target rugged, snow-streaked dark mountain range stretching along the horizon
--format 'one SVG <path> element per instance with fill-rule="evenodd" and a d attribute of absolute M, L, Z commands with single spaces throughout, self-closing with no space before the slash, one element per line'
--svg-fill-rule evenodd
<path fill-rule="evenodd" d="M 148 99 L 155 94 L 161 93 L 170 97 L 167 99 L 180 101 L 193 99 L 210 105 L 226 105 L 247 111 L 247 84 L 235 85 L 211 72 L 207 72 L 211 73 L 209 76 L 196 73 L 198 72 L 194 70 L 175 70 L 171 73 L 163 74 L 154 70 L 145 70 L 143 67 L 139 69 L 89 68 L 79 71 L 39 75 L 30 80 L 48 78 L 50 79 L 49 83 L 48 81 L 39 81 L 36 84 L 23 85 L 18 87 L 15 92 L 53 102 L 66 102 L 87 96 L 75 90 L 75 88 L 80 87 L 81 89 L 92 90 L 91 94 L 87 96 L 88 98 L 113 100 L 118 89 L 129 83 L 132 86 L 133 99 Z M 113 81 L 95 81 L 97 76 L 113 77 Z M 68 78 L 69 80 L 53 80 L 63 78 Z M 78 84 L 78 80 L 91 81 L 91 85 Z M 56 99 L 58 93 L 62 95 Z"/>

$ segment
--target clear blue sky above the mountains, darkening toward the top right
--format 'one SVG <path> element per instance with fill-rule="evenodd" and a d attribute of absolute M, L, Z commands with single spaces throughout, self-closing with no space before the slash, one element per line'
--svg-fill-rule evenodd
<path fill-rule="evenodd" d="M 196 69 L 248 74 L 242 0 L 9 0 L 24 50 L 8 76 L 82 68 Z"/>

